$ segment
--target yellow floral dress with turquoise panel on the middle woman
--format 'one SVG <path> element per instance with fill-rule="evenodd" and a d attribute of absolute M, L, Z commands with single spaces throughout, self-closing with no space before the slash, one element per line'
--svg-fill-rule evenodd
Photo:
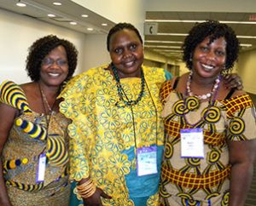
<path fill-rule="evenodd" d="M 102 198 L 104 205 L 158 205 L 164 138 L 160 87 L 166 80 L 165 72 L 143 66 L 145 94 L 136 106 L 129 107 L 119 100 L 116 82 L 107 67 L 74 77 L 61 94 L 65 99 L 61 112 L 73 120 L 68 127 L 70 178 L 79 181 L 90 176 L 96 186 L 113 197 Z M 120 82 L 129 100 L 136 100 L 141 78 L 122 78 Z M 137 176 L 135 145 L 157 146 L 158 174 Z M 73 192 L 77 193 L 75 188 Z"/>

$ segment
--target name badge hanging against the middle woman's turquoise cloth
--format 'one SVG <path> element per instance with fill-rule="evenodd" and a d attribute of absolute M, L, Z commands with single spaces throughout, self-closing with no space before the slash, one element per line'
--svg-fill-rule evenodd
<path fill-rule="evenodd" d="M 137 149 L 137 176 L 157 174 L 157 147 Z"/>

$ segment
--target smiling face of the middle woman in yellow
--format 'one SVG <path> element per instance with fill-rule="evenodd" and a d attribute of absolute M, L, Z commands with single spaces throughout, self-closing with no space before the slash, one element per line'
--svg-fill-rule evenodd
<path fill-rule="evenodd" d="M 119 77 L 140 77 L 143 43 L 135 31 L 124 29 L 114 33 L 109 41 L 109 54 Z"/>

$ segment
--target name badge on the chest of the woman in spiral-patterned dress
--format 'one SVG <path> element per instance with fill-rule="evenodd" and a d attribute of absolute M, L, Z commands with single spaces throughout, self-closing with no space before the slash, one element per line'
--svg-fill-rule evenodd
<path fill-rule="evenodd" d="M 203 130 L 181 129 L 181 157 L 204 158 Z"/>

